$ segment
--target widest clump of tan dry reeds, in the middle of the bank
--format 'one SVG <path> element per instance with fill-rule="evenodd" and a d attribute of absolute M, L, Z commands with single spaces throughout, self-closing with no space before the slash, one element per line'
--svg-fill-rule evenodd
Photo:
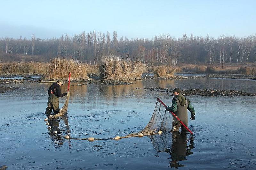
<path fill-rule="evenodd" d="M 99 65 L 100 78 L 106 80 L 133 80 L 141 78 L 148 69 L 145 63 L 139 61 L 125 61 L 119 57 L 108 55 Z"/>

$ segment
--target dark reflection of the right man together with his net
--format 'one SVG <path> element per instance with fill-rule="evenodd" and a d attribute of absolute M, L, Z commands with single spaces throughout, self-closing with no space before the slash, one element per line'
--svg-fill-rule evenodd
<path fill-rule="evenodd" d="M 172 133 L 166 131 L 162 135 L 152 135 L 149 138 L 157 152 L 166 152 L 171 155 L 170 167 L 178 169 L 185 166 L 180 161 L 187 160 L 186 157 L 193 154 L 194 137 L 189 135 L 188 138 L 188 135 L 188 131 Z"/>

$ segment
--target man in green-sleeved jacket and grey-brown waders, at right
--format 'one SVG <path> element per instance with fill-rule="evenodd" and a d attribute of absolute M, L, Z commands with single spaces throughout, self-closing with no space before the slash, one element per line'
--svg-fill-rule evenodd
<path fill-rule="evenodd" d="M 174 96 L 172 99 L 172 106 L 166 107 L 166 110 L 173 112 L 186 126 L 188 126 L 188 110 L 191 113 L 190 119 L 193 121 L 195 120 L 196 115 L 195 109 L 191 105 L 190 101 L 180 94 L 180 88 L 176 87 L 171 92 L 173 92 L 172 95 Z M 180 127 L 181 130 L 187 130 L 175 117 L 173 117 L 172 131 L 179 131 Z"/>

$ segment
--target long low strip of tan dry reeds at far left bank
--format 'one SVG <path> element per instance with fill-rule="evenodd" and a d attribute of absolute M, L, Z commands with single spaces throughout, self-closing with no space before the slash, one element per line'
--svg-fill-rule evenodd
<path fill-rule="evenodd" d="M 41 62 L 9 62 L 0 63 L 0 73 L 23 74 L 38 73 L 46 74 L 49 63 Z"/>

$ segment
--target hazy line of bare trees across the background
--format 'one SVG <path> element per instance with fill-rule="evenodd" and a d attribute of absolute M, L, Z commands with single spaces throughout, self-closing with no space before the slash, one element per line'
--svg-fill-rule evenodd
<path fill-rule="evenodd" d="M 237 38 L 221 35 L 219 38 L 194 36 L 192 33 L 182 38 L 169 34 L 155 36 L 154 39 L 118 38 L 117 33 L 104 34 L 99 31 L 82 32 L 52 39 L 1 38 L 0 60 L 10 61 L 19 56 L 30 56 L 35 61 L 49 61 L 56 56 L 72 57 L 96 64 L 105 55 L 117 55 L 125 59 L 139 60 L 154 65 L 178 65 L 180 63 L 256 63 L 256 34 Z"/>

